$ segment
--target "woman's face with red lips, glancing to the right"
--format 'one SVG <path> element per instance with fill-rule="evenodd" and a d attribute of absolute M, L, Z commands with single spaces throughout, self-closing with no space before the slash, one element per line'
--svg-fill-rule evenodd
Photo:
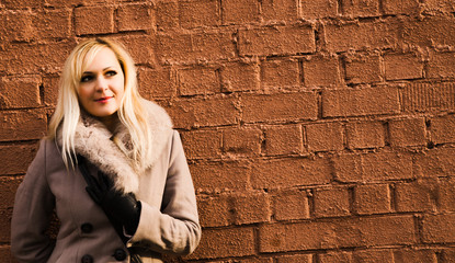
<path fill-rule="evenodd" d="M 115 114 L 125 92 L 121 65 L 111 48 L 96 53 L 79 82 L 79 102 L 91 115 L 101 119 Z"/>

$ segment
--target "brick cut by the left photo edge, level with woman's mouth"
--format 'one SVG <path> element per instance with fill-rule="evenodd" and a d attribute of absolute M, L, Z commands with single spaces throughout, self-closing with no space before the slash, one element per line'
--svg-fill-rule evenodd
<path fill-rule="evenodd" d="M 3 77 L 0 79 L 0 108 L 37 107 L 41 78 Z"/>

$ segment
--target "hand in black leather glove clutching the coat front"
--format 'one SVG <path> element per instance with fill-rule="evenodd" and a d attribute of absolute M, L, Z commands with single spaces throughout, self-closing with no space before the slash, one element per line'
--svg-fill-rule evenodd
<path fill-rule="evenodd" d="M 133 193 L 123 194 L 114 188 L 114 182 L 101 171 L 99 180 L 90 175 L 87 193 L 101 206 L 111 220 L 122 224 L 128 235 L 136 232 L 140 217 L 140 202 Z"/>

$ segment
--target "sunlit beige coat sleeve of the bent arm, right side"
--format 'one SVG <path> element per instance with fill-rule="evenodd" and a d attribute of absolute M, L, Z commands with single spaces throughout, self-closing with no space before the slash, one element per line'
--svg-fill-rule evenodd
<path fill-rule="evenodd" d="M 139 226 L 129 243 L 139 242 L 157 252 L 186 255 L 201 239 L 194 186 L 178 132 L 173 132 L 171 157 L 161 210 L 143 202 Z"/>

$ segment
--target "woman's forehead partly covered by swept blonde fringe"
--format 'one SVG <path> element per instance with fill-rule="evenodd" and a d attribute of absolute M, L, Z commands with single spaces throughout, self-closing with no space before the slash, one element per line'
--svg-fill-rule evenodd
<path fill-rule="evenodd" d="M 92 49 L 83 60 L 83 71 L 100 70 L 106 67 L 120 67 L 117 56 L 109 47 Z"/>

